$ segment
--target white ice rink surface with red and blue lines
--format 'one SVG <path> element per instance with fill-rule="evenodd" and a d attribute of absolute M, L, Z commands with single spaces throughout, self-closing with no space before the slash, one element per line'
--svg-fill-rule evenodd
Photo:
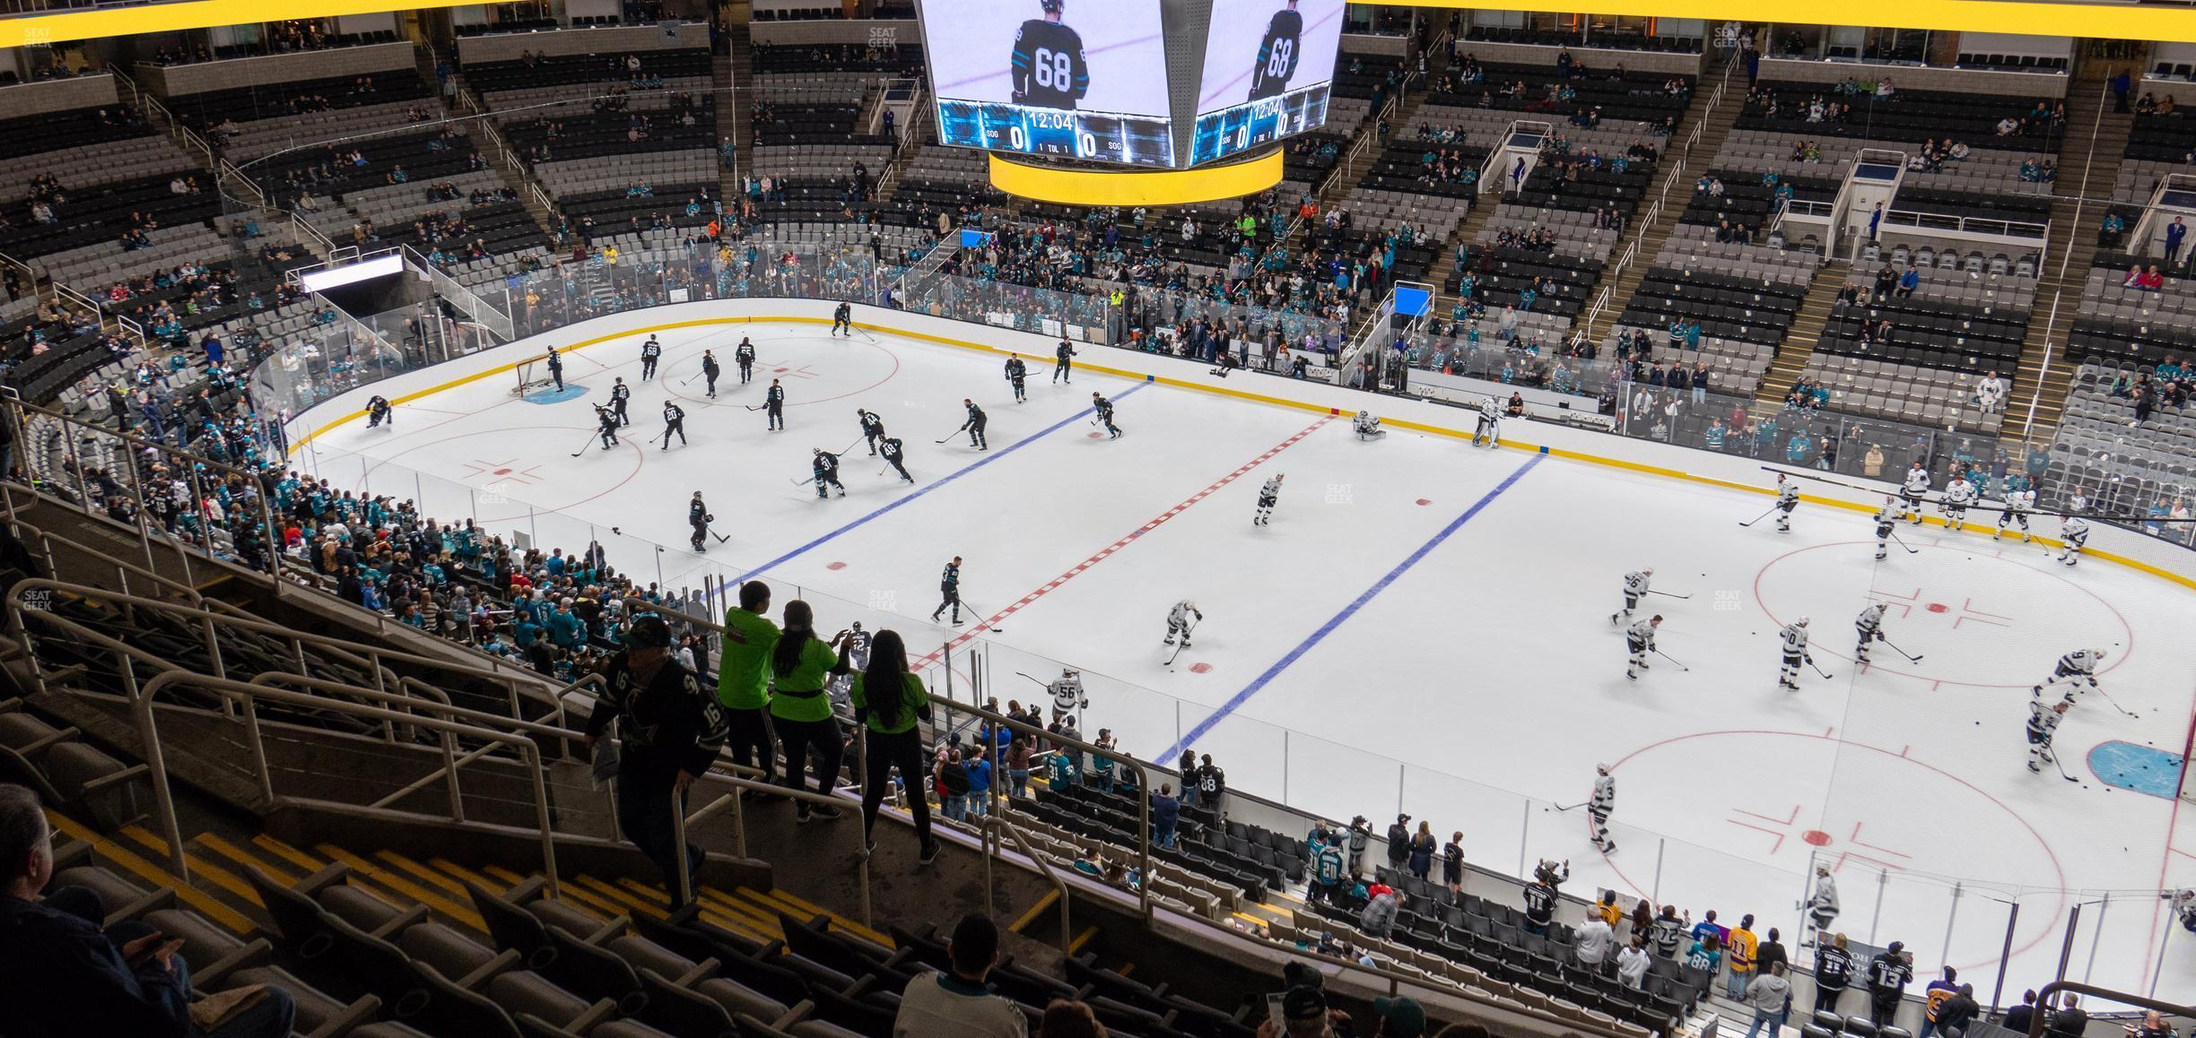
<path fill-rule="evenodd" d="M 760 351 L 744 386 L 742 334 Z M 2196 709 L 2196 597 L 2159 577 L 1906 524 L 1917 551 L 1878 564 L 1856 511 L 1803 505 L 1788 535 L 1772 520 L 1741 529 L 1768 498 L 1414 432 L 1359 441 L 1346 415 L 1100 373 L 1054 384 L 1050 353 L 1026 356 L 1030 399 L 1015 404 L 993 356 L 883 334 L 670 329 L 652 382 L 639 382 L 641 338 L 571 353 L 567 380 L 584 393 L 569 399 L 516 399 L 514 377 L 485 377 L 402 404 L 393 428 L 343 424 L 294 461 L 338 489 L 419 498 L 428 516 L 479 516 L 545 549 L 602 540 L 641 582 L 760 577 L 777 606 L 815 601 L 824 632 L 892 623 L 931 652 L 933 687 L 938 650 L 960 639 L 962 698 L 973 652 L 1001 702 L 1045 698 L 1017 674 L 1074 665 L 1091 698 L 1085 737 L 1111 729 L 1164 764 L 1188 744 L 1234 790 L 1342 823 L 1364 814 L 1375 832 L 1401 805 L 1438 840 L 1463 830 L 1487 869 L 1568 858 L 1572 893 L 1614 887 L 1627 906 L 1717 909 L 1724 924 L 1755 913 L 1757 933 L 1779 926 L 1796 946 L 1794 904 L 1823 862 L 1840 880 L 1838 930 L 1906 941 L 1917 990 L 1961 966 L 1981 998 L 2018 900 L 2016 1001 L 2049 979 L 2084 904 L 2069 977 L 2196 994 L 2196 939 L 2156 898 L 2196 882 L 2196 825 L 2172 792 Z M 725 364 L 716 399 L 698 377 L 705 347 Z M 591 404 L 613 375 L 632 386 L 632 426 L 597 450 Z M 784 432 L 747 410 L 771 377 L 786 386 Z M 1094 428 L 1091 391 L 1116 402 L 1122 439 Z M 652 441 L 665 395 L 690 437 L 668 452 Z M 953 432 L 962 397 L 990 415 L 988 452 Z M 867 456 L 856 406 L 905 441 L 916 485 Z M 810 450 L 850 441 L 848 494 L 817 500 Z M 1280 507 L 1254 527 L 1276 472 Z M 707 555 L 687 549 L 696 489 L 729 538 Z M 960 628 L 929 621 L 951 555 L 971 606 Z M 1632 682 L 1610 612 L 1640 566 L 1684 597 L 1647 599 L 1669 658 Z M 1159 639 L 1184 597 L 1206 619 L 1168 667 Z M 1878 647 L 1873 667 L 1853 665 L 1869 601 L 1891 603 L 1889 639 L 1919 663 Z M 1803 672 L 1785 693 L 1774 632 L 1801 614 L 1829 678 Z M 2084 696 L 2058 731 L 2075 781 L 2031 775 L 2029 687 L 2075 647 L 2108 652 L 2110 702 Z M 1588 797 L 1596 761 L 1618 783 L 1607 856 L 1583 810 L 1555 810 Z"/>

